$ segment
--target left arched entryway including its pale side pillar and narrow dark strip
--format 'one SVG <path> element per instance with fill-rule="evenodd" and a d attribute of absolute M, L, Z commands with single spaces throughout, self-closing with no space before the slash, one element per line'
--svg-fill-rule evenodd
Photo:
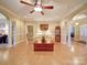
<path fill-rule="evenodd" d="M 0 47 L 11 46 L 14 43 L 14 23 L 0 13 Z"/>

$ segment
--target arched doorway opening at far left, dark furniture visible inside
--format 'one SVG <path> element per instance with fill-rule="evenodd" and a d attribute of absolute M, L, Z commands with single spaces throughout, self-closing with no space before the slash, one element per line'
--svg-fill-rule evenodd
<path fill-rule="evenodd" d="M 0 13 L 0 46 L 9 45 L 9 36 L 10 36 L 10 21 L 8 18 Z"/>

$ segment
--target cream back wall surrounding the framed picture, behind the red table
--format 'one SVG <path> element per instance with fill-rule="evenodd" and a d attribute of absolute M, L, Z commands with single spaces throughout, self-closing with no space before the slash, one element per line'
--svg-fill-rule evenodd
<path fill-rule="evenodd" d="M 48 24 L 48 30 L 45 31 L 45 32 L 42 32 L 40 30 L 40 24 Z M 41 35 L 41 33 L 45 34 L 46 35 L 46 39 L 48 36 L 51 36 L 51 39 L 54 41 L 54 35 L 55 35 L 55 26 L 58 25 L 58 23 L 56 22 L 30 22 L 30 23 L 26 23 L 26 25 L 33 25 L 33 33 L 34 33 L 34 39 L 37 37 L 37 34 L 39 36 Z M 42 35 L 40 36 L 40 39 L 42 37 Z"/>

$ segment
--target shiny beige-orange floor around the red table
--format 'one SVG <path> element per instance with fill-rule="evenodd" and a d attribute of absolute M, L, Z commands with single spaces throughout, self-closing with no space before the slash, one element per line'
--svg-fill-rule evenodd
<path fill-rule="evenodd" d="M 55 43 L 54 52 L 34 52 L 33 43 L 0 48 L 0 65 L 87 65 L 87 45 Z"/>

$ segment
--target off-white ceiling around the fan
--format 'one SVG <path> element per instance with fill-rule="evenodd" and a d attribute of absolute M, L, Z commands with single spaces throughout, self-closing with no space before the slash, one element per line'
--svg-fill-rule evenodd
<path fill-rule="evenodd" d="M 34 0 L 30 0 L 34 3 Z M 43 0 L 43 4 L 54 6 L 53 10 L 43 10 L 44 15 L 41 13 L 30 13 L 33 9 L 32 7 L 24 6 L 20 3 L 20 0 L 0 0 L 0 4 L 10 9 L 12 12 L 19 17 L 26 17 L 26 19 L 32 19 L 36 21 L 59 21 L 67 17 L 70 12 L 78 9 L 87 0 Z"/>

